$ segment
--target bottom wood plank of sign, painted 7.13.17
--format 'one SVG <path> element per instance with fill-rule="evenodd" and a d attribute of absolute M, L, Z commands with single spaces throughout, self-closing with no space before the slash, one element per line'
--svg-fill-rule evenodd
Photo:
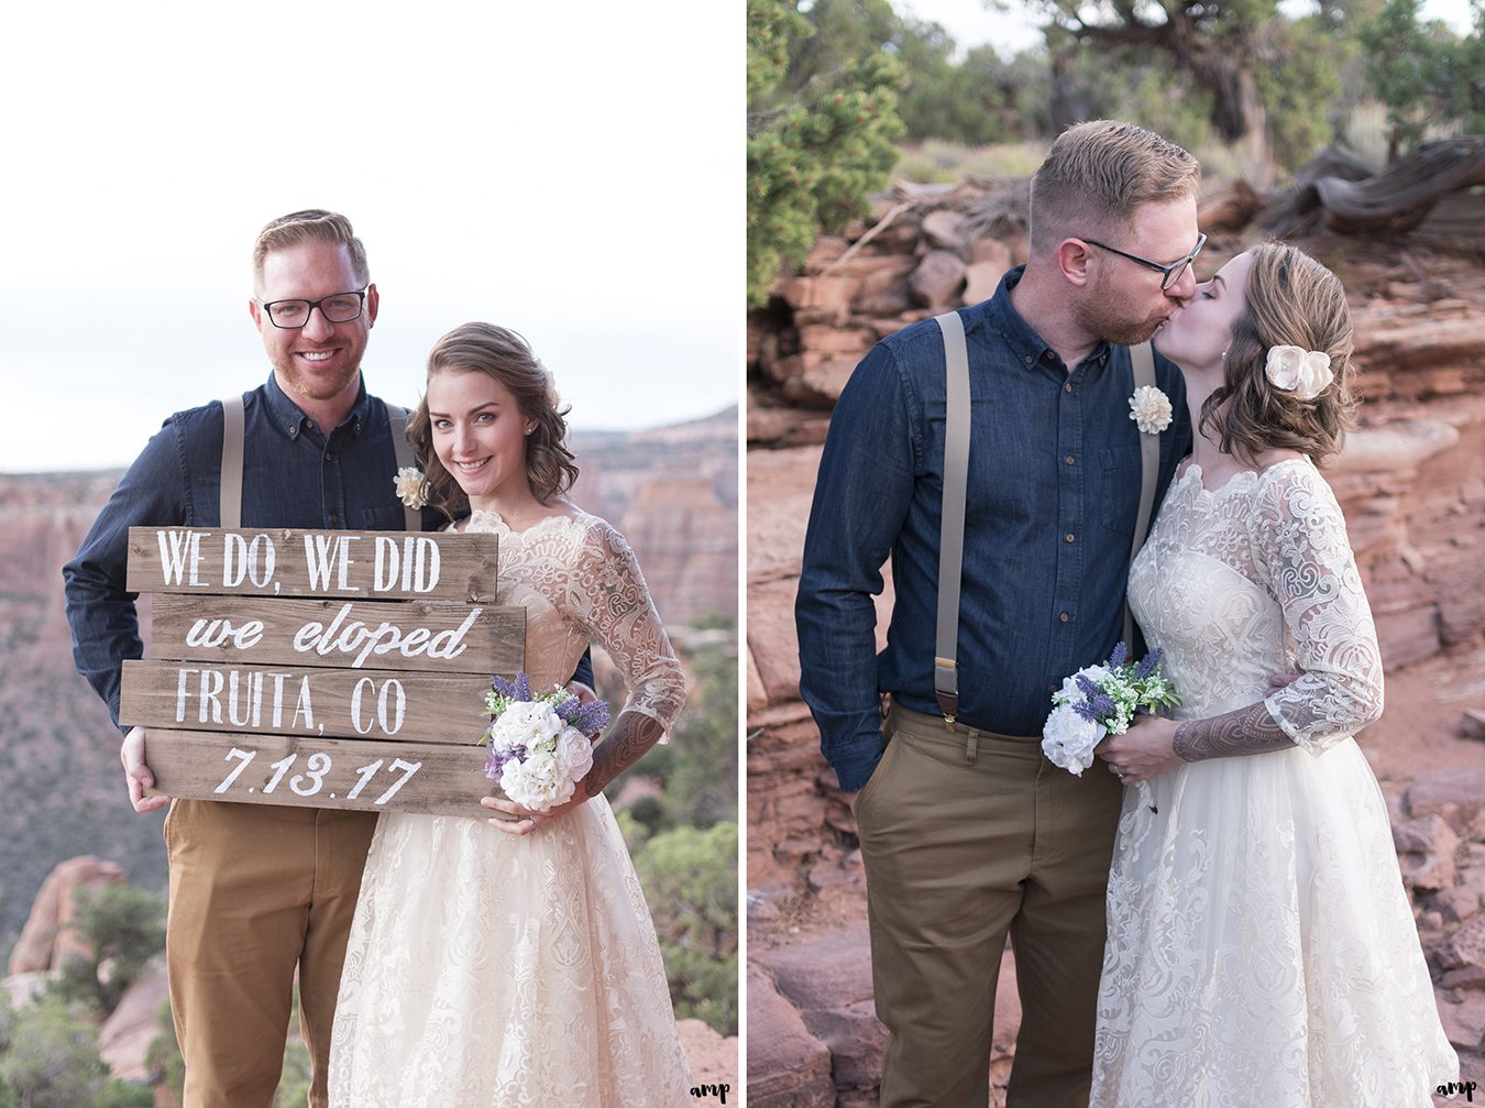
<path fill-rule="evenodd" d="M 484 759 L 480 746 L 151 731 L 146 760 L 156 787 L 146 792 L 233 804 L 489 817 L 480 798 L 499 790 L 484 775 Z"/>

